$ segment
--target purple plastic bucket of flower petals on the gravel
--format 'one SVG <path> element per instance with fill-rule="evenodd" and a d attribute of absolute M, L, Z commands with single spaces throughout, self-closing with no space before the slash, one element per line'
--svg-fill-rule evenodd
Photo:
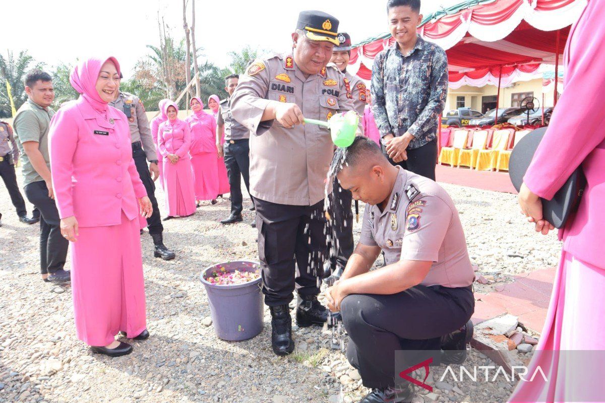
<path fill-rule="evenodd" d="M 217 336 L 223 340 L 248 340 L 263 331 L 263 292 L 261 279 L 237 285 L 216 285 L 209 283 L 208 277 L 224 268 L 227 272 L 260 271 L 258 262 L 238 260 L 219 263 L 204 269 L 200 280 L 204 283 L 210 315 Z"/>

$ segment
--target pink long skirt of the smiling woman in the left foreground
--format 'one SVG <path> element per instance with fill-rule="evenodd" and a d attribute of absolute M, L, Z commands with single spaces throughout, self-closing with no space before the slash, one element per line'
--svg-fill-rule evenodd
<path fill-rule="evenodd" d="M 71 286 L 77 338 L 107 346 L 120 330 L 128 338 L 146 329 L 139 220 L 80 227 L 71 243 Z"/>

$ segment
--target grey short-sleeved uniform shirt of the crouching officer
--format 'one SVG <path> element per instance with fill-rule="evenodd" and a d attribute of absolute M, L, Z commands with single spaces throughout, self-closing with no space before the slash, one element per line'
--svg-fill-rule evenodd
<path fill-rule="evenodd" d="M 433 262 L 424 286 L 469 286 L 474 271 L 454 202 L 431 179 L 397 167 L 399 173 L 384 211 L 366 205 L 359 242 L 379 246 L 387 265 L 399 260 Z"/>

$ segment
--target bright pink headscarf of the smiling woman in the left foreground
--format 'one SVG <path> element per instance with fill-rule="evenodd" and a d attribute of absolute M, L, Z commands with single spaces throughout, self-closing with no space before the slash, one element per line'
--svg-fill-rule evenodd
<path fill-rule="evenodd" d="M 73 86 L 79 94 L 82 94 L 82 97 L 99 112 L 105 112 L 107 110 L 107 103 L 101 99 L 99 92 L 97 92 L 97 79 L 99 79 L 101 67 L 108 60 L 114 63 L 117 73 L 120 74 L 120 63 L 117 62 L 115 57 L 108 57 L 105 60 L 91 57 L 88 60 L 83 60 L 74 67 L 70 76 L 71 86 Z"/>

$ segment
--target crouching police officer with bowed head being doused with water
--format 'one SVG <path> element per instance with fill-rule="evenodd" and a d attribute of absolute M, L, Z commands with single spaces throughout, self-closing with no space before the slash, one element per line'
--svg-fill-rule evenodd
<path fill-rule="evenodd" d="M 373 389 L 362 403 L 410 401 L 395 351 L 442 349 L 441 363 L 459 364 L 473 335 L 474 273 L 458 212 L 436 182 L 392 166 L 369 138 L 337 150 L 332 172 L 366 205 L 359 243 L 326 291 L 329 308 L 341 312 L 347 358 Z M 385 266 L 369 271 L 381 251 Z"/>

